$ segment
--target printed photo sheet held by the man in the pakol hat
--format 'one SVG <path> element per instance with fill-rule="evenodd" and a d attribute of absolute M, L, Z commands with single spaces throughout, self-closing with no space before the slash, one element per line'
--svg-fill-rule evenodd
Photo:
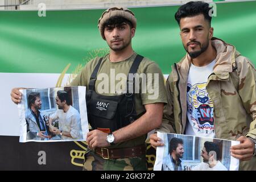
<path fill-rule="evenodd" d="M 85 86 L 20 89 L 19 142 L 85 141 Z"/>

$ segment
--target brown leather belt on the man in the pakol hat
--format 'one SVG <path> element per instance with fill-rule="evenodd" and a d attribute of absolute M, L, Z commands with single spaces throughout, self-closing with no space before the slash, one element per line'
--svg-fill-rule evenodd
<path fill-rule="evenodd" d="M 135 156 L 146 155 L 146 145 L 129 148 L 95 148 L 94 152 L 103 159 L 132 158 Z"/>

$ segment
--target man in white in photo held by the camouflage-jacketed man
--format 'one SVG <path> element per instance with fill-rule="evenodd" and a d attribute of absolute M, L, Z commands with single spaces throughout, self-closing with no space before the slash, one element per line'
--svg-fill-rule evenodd
<path fill-rule="evenodd" d="M 213 142 L 205 142 L 201 151 L 203 162 L 193 167 L 192 171 L 228 171 L 228 169 L 220 162 L 220 149 Z"/>

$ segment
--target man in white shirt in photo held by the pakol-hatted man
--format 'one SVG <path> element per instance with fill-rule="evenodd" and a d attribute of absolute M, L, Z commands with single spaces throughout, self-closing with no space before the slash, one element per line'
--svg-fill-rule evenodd
<path fill-rule="evenodd" d="M 71 106 L 71 99 L 64 90 L 59 90 L 56 96 L 58 110 L 49 118 L 49 128 L 63 140 L 82 139 L 81 120 L 79 111 Z M 53 120 L 59 121 L 59 129 L 52 126 Z"/>

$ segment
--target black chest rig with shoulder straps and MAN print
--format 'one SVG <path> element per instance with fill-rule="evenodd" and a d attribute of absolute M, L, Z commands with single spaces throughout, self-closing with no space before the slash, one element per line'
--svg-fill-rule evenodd
<path fill-rule="evenodd" d="M 143 57 L 137 55 L 131 65 L 129 73 L 137 73 Z M 135 110 L 134 77 L 129 80 L 127 75 L 126 93 L 118 96 L 103 96 L 95 92 L 98 69 L 102 61 L 93 70 L 90 76 L 88 90 L 86 90 L 86 103 L 88 121 L 92 129 L 98 129 L 106 133 L 112 133 L 134 122 L 138 116 Z M 133 89 L 131 89 L 131 86 Z"/>

